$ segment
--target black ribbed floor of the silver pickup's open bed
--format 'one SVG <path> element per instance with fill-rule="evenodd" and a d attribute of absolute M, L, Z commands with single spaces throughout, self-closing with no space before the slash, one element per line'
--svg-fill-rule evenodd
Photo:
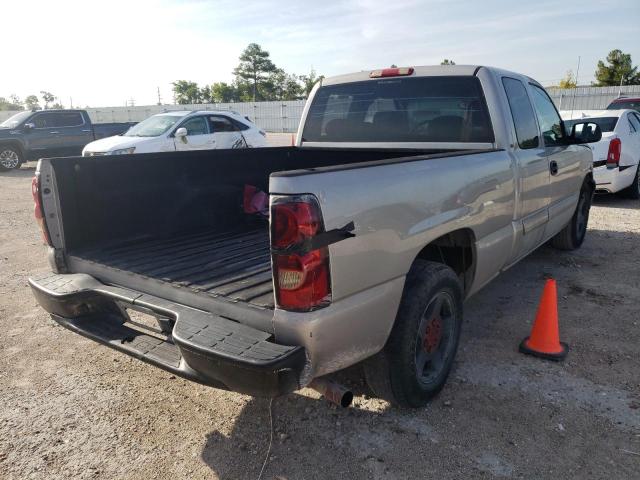
<path fill-rule="evenodd" d="M 70 256 L 194 293 L 274 308 L 266 226 L 145 238 Z"/>

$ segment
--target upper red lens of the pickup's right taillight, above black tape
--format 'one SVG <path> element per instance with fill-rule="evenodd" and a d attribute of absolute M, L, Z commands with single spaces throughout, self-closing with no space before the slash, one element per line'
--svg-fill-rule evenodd
<path fill-rule="evenodd" d="M 287 248 L 313 237 L 320 229 L 317 206 L 308 202 L 274 204 L 271 209 L 273 246 Z"/>

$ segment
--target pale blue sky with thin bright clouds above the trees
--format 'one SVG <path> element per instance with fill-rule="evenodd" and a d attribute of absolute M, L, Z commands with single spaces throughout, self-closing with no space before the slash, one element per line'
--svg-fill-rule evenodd
<path fill-rule="evenodd" d="M 593 81 L 610 50 L 640 64 L 640 0 L 2 0 L 0 97 L 172 103 L 171 82 L 231 81 L 249 43 L 289 73 L 492 65 L 544 85 Z"/>

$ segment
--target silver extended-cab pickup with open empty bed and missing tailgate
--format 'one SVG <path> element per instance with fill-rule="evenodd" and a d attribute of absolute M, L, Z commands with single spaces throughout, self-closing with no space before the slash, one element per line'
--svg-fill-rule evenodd
<path fill-rule="evenodd" d="M 206 385 L 273 397 L 363 362 L 377 395 L 422 406 L 463 300 L 548 240 L 582 244 L 577 143 L 600 130 L 577 130 L 496 68 L 327 78 L 293 147 L 41 160 L 52 272 L 29 282 L 59 324 Z"/>

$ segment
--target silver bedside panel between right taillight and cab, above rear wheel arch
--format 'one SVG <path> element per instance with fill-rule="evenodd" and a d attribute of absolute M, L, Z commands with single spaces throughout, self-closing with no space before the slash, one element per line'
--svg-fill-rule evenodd
<path fill-rule="evenodd" d="M 366 168 L 272 175 L 272 194 L 314 194 L 327 230 L 353 221 L 330 246 L 334 301 L 403 277 L 432 240 L 469 228 L 476 244 L 470 292 L 493 278 L 513 247 L 514 175 L 504 151 Z"/>

